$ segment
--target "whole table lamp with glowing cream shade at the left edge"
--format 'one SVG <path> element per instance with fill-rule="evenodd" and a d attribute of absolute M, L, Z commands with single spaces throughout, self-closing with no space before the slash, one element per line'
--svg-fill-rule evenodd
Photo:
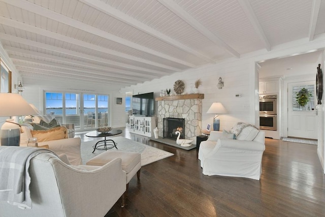
<path fill-rule="evenodd" d="M 37 114 L 19 94 L 0 93 L 0 117 Z M 7 119 L 1 127 L 0 143 L 3 146 L 19 146 L 20 125 Z"/>

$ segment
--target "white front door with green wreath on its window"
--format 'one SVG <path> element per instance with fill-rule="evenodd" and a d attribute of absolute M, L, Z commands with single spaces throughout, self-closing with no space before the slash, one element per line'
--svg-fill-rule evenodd
<path fill-rule="evenodd" d="M 303 88 L 311 92 L 309 102 L 302 107 L 297 103 L 297 94 Z M 288 83 L 288 136 L 317 139 L 315 106 L 315 81 Z"/>

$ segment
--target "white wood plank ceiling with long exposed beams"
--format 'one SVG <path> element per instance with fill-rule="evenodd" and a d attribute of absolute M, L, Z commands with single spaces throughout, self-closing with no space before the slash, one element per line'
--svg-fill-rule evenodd
<path fill-rule="evenodd" d="M 325 33 L 325 0 L 0 0 L 25 85 L 111 90 Z"/>

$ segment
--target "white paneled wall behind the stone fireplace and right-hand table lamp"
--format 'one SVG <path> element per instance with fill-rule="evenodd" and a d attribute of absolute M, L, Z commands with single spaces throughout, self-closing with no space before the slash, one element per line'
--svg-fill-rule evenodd
<path fill-rule="evenodd" d="M 212 124 L 214 115 L 206 113 L 211 104 L 213 102 L 221 102 L 228 111 L 227 114 L 219 115 L 220 130 L 223 130 L 230 129 L 238 121 L 250 121 L 249 110 L 252 109 L 249 104 L 249 98 L 251 97 L 249 94 L 250 73 L 254 74 L 254 71 L 250 71 L 248 59 L 236 60 L 230 63 L 207 66 L 165 76 L 161 79 L 125 88 L 123 91 L 140 92 L 141 94 L 153 91 L 155 97 L 158 97 L 160 89 L 171 88 L 173 90 L 174 82 L 180 79 L 185 83 L 184 93 L 189 93 L 190 84 L 194 83 L 197 79 L 201 79 L 202 85 L 199 87 L 199 92 L 204 94 L 202 101 L 202 128 L 205 129 L 208 123 Z M 224 82 L 222 89 L 218 89 L 216 85 L 219 77 Z M 241 94 L 242 97 L 236 98 L 236 94 Z"/>

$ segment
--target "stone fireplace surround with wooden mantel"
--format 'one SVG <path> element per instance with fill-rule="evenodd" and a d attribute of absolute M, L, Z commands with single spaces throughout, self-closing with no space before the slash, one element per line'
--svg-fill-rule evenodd
<path fill-rule="evenodd" d="M 201 135 L 202 130 L 202 99 L 204 99 L 202 94 L 156 98 L 158 136 L 163 137 L 164 118 L 184 118 L 185 139 L 191 139 L 196 143 L 196 137 Z"/>

